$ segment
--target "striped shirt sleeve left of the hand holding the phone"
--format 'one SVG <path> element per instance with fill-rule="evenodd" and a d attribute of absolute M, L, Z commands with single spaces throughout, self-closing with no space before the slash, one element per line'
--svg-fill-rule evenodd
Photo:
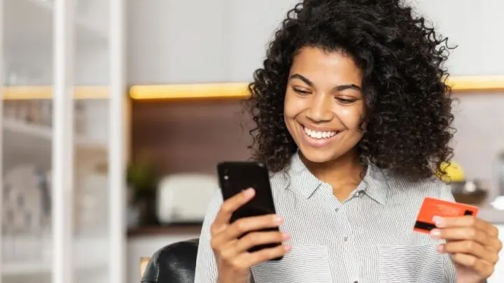
<path fill-rule="evenodd" d="M 210 246 L 210 226 L 214 222 L 218 210 L 221 207 L 221 203 L 223 203 L 223 199 L 219 191 L 218 194 L 211 199 L 203 220 L 196 259 L 195 283 L 217 282 L 217 264 L 214 251 Z"/>

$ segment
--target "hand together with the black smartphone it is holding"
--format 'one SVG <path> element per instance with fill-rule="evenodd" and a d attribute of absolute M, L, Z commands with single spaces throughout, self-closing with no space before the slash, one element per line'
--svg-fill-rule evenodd
<path fill-rule="evenodd" d="M 283 219 L 275 213 L 265 168 L 224 163 L 218 175 L 224 201 L 210 233 L 219 282 L 248 283 L 252 266 L 279 260 L 290 250 L 282 244 L 289 235 L 279 231 Z M 250 184 L 257 188 L 243 187 Z"/>

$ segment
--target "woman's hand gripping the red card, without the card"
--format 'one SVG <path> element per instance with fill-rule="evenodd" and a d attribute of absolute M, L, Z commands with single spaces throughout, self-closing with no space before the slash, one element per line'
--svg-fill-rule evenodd
<path fill-rule="evenodd" d="M 450 254 L 458 283 L 485 282 L 492 275 L 503 248 L 496 226 L 472 216 L 435 217 L 435 238 L 445 239 L 438 251 Z"/>

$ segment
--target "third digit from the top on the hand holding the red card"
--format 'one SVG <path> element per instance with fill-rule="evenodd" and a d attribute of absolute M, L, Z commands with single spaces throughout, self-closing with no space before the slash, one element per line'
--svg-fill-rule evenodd
<path fill-rule="evenodd" d="M 496 253 L 470 240 L 447 242 L 447 244 L 440 245 L 438 250 L 449 254 L 468 254 L 491 264 L 495 264 L 498 261 L 498 255 Z"/>

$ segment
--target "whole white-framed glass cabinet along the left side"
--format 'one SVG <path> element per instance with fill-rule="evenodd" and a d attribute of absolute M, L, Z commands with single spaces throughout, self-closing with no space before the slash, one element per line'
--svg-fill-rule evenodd
<path fill-rule="evenodd" d="M 0 7 L 0 283 L 123 283 L 125 1 Z"/>

